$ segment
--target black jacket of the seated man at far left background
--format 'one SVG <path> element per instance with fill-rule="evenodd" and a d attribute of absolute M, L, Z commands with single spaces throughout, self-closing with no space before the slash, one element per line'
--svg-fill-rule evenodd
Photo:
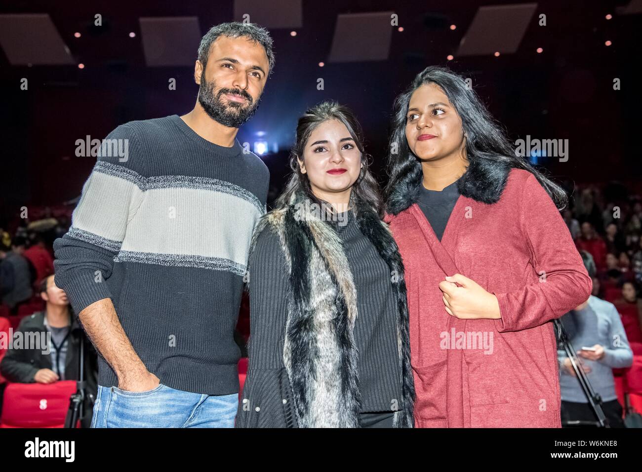
<path fill-rule="evenodd" d="M 64 374 L 65 380 L 78 380 L 78 350 L 80 349 L 80 337 L 85 337 L 82 328 L 78 325 L 76 318 L 72 315 L 71 333 L 67 338 L 67 358 L 65 361 Z M 27 339 L 26 333 L 41 333 L 46 335 L 47 328 L 44 326 L 44 311 L 33 313 L 24 317 L 18 326 L 17 331 L 13 333 L 15 342 L 16 333 L 23 333 L 23 342 Z M 33 335 L 31 335 L 33 336 Z M 40 338 L 42 339 L 42 338 Z M 85 418 L 83 427 L 89 427 L 91 424 L 92 405 L 96 400 L 98 392 L 98 358 L 96 350 L 91 342 L 85 337 L 85 381 L 87 390 L 85 394 Z M 8 349 L 2 362 L 0 363 L 0 373 L 10 382 L 17 383 L 34 383 L 34 376 L 40 369 L 53 369 L 51 354 L 43 354 L 42 351 L 47 349 Z"/>

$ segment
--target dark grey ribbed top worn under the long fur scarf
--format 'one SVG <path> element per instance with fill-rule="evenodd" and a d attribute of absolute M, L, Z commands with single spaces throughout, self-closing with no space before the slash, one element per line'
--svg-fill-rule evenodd
<path fill-rule="evenodd" d="M 403 398 L 390 268 L 361 234 L 352 210 L 331 224 L 343 241 L 357 294 L 354 342 L 359 352 L 361 412 L 390 411 Z M 259 234 L 249 267 L 250 365 L 236 422 L 246 428 L 284 426 L 289 390 L 283 385 L 287 375 L 282 360 L 288 274 L 281 241 L 271 227 Z"/>

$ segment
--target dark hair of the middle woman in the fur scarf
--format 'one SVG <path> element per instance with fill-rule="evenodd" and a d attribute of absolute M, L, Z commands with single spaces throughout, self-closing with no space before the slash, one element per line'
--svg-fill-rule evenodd
<path fill-rule="evenodd" d="M 365 152 L 363 146 L 363 130 L 359 121 L 352 113 L 352 110 L 344 105 L 340 105 L 336 101 L 323 101 L 315 107 L 308 109 L 300 118 L 297 123 L 297 135 L 295 143 L 290 151 L 290 169 L 292 175 L 283 193 L 277 198 L 275 202 L 276 207 L 285 207 L 290 202 L 290 197 L 293 193 L 302 190 L 306 193 L 311 202 L 318 205 L 325 204 L 331 211 L 331 205 L 325 200 L 316 197 L 310 187 L 308 175 L 303 174 L 299 170 L 299 162 L 297 159 L 303 161 L 303 151 L 308 144 L 308 139 L 312 132 L 324 121 L 329 119 L 336 119 L 343 123 L 350 133 L 358 150 L 361 152 L 361 172 L 358 179 L 352 185 L 351 199 L 354 194 L 355 198 L 360 199 L 362 202 L 370 205 L 370 207 L 383 218 L 383 201 L 381 200 L 381 193 L 379 192 L 379 184 L 369 170 L 369 164 L 372 157 Z"/>

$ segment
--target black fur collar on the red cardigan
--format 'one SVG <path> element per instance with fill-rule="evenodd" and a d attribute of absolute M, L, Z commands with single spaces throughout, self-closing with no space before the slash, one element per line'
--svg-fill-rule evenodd
<path fill-rule="evenodd" d="M 494 204 L 504 191 L 510 173 L 507 162 L 473 159 L 464 175 L 457 182 L 460 195 L 477 202 Z M 388 213 L 397 214 L 419 200 L 423 173 L 421 163 L 416 161 L 395 184 L 388 196 Z"/>

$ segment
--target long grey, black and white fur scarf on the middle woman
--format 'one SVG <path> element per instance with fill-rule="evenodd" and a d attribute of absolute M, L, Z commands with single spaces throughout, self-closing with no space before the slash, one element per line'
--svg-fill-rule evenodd
<path fill-rule="evenodd" d="M 353 194 L 351 209 L 360 231 L 386 261 L 391 274 L 396 275 L 392 277 L 392 288 L 397 300 L 396 336 L 403 398 L 394 414 L 394 426 L 412 428 L 415 389 L 403 263 L 388 225 L 369 205 Z M 272 225 L 279 234 L 288 263 L 290 287 L 283 362 L 297 423 L 302 428 L 358 428 L 359 353 L 353 336 L 358 313 L 343 242 L 302 191 L 292 196 L 288 206 L 270 211 L 259 220 L 250 251 L 266 225 Z"/>

